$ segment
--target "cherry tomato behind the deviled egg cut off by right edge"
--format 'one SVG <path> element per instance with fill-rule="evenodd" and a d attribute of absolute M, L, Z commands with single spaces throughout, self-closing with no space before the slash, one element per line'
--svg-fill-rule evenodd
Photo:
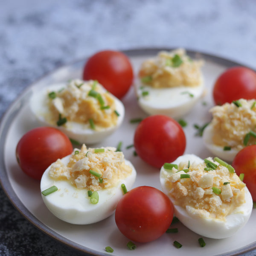
<path fill-rule="evenodd" d="M 256 72 L 247 67 L 231 67 L 215 82 L 213 99 L 216 105 L 238 99 L 256 99 Z"/>

